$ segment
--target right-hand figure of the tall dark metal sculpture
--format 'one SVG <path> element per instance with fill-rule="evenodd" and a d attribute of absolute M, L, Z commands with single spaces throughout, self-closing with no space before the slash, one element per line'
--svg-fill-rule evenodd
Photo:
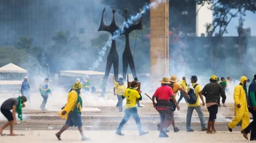
<path fill-rule="evenodd" d="M 127 21 L 127 13 L 128 10 L 124 10 L 125 13 L 125 21 Z M 133 30 L 142 30 L 142 18 L 140 19 L 140 22 L 138 24 L 129 24 L 129 27 L 126 28 L 124 27 L 124 33 L 121 35 L 125 35 L 125 49 L 123 52 L 123 79 L 124 81 L 126 80 L 126 74 L 127 74 L 127 69 L 128 69 L 128 64 L 130 65 L 130 69 L 132 71 L 132 75 L 134 78 L 137 77 L 136 70 L 135 70 L 135 64 L 132 56 L 132 52 L 130 49 L 130 42 L 129 42 L 129 34 Z"/>

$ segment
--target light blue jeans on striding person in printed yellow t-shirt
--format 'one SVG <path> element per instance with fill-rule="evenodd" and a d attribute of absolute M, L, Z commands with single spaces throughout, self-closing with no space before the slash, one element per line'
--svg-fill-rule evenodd
<path fill-rule="evenodd" d="M 117 128 L 117 131 L 121 131 L 123 129 L 124 124 L 130 119 L 131 116 L 134 118 L 139 131 L 143 132 L 142 125 L 141 125 L 141 120 L 140 120 L 140 117 L 138 115 L 137 107 L 127 108 L 127 109 L 124 110 L 124 118 L 121 121 L 119 127 Z"/>

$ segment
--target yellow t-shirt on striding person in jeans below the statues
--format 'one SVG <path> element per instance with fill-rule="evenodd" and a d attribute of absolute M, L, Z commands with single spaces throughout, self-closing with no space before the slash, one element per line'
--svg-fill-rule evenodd
<path fill-rule="evenodd" d="M 135 89 L 132 89 L 132 88 L 127 88 L 124 91 L 123 96 L 126 98 L 125 108 L 136 107 L 137 99 L 141 97 L 139 92 Z"/>

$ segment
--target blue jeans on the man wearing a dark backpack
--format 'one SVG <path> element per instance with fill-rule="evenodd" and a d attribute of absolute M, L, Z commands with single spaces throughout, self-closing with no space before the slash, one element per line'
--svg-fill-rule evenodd
<path fill-rule="evenodd" d="M 200 119 L 200 122 L 201 122 L 201 129 L 206 129 L 204 115 L 203 115 L 201 106 L 196 106 L 196 107 L 188 107 L 188 111 L 187 111 L 187 131 L 191 130 L 191 118 L 192 118 L 192 113 L 193 113 L 194 109 L 196 110 L 196 112 L 199 116 L 199 119 Z"/>

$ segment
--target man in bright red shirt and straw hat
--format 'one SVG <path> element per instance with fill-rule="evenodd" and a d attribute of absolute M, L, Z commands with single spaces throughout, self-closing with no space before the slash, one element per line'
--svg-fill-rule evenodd
<path fill-rule="evenodd" d="M 177 109 L 180 110 L 180 106 L 175 99 L 175 95 L 173 90 L 168 84 L 170 84 L 169 79 L 167 77 L 163 77 L 160 81 L 161 85 L 158 87 L 152 96 L 153 106 L 157 109 L 161 118 L 165 119 L 164 122 L 160 124 L 160 134 L 159 137 L 169 137 L 166 134 L 166 129 L 171 125 L 174 121 L 173 118 L 173 106 L 169 101 L 170 96 L 173 97 L 173 101 L 177 106 Z M 155 104 L 155 98 L 157 104 Z"/>

